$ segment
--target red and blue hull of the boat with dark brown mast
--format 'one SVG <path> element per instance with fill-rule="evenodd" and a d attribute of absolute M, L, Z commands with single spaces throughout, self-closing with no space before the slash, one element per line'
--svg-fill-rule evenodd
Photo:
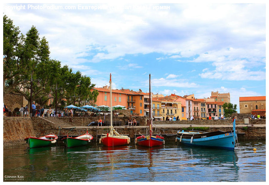
<path fill-rule="evenodd" d="M 160 136 L 140 136 L 137 137 L 137 144 L 139 146 L 147 146 L 147 147 L 154 147 L 154 146 L 161 146 L 163 145 L 163 137 Z"/>

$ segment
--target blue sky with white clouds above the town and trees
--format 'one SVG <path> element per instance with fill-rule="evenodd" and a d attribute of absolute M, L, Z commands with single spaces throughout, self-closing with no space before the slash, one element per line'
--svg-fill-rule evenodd
<path fill-rule="evenodd" d="M 266 95 L 265 3 L 54 1 L 4 4 L 3 12 L 23 34 L 34 25 L 50 58 L 96 87 L 111 73 L 113 88 L 148 92 L 151 74 L 155 94 L 230 92 L 238 112 L 239 97 Z"/>

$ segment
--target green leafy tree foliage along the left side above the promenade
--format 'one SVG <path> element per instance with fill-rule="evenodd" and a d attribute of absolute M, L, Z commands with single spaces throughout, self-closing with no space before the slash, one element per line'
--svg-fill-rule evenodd
<path fill-rule="evenodd" d="M 80 71 L 74 73 L 67 65 L 61 66 L 60 61 L 50 59 L 48 41 L 45 37 L 39 38 L 36 27 L 32 26 L 26 35 L 20 34 L 19 27 L 13 25 L 13 21 L 4 15 L 3 36 L 4 96 L 13 92 L 21 94 L 29 101 L 32 75 L 33 101 L 41 105 L 55 97 L 56 84 L 59 88 L 57 101 L 61 104 L 64 104 L 62 99 L 69 101 L 70 97 L 80 97 L 81 100 L 93 104 L 96 102 L 98 92 L 91 92 L 95 84 L 91 84 L 90 77 L 82 76 Z M 61 90 L 64 91 L 63 94 L 60 93 Z"/>

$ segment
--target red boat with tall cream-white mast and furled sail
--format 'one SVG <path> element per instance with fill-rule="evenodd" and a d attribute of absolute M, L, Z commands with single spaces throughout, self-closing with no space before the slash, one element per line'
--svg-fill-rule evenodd
<path fill-rule="evenodd" d="M 103 143 L 104 146 L 121 146 L 130 143 L 130 137 L 119 134 L 113 127 L 112 124 L 112 80 L 111 74 L 109 79 L 110 85 L 110 132 L 107 134 L 102 134 L 99 143 Z"/>

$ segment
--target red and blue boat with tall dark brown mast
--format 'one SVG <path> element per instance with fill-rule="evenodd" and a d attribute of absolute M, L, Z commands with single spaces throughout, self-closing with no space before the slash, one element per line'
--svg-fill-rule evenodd
<path fill-rule="evenodd" d="M 149 135 L 142 135 L 139 136 L 135 139 L 135 143 L 137 143 L 139 146 L 148 146 L 148 147 L 153 147 L 153 146 L 161 146 L 164 144 L 164 137 L 156 135 L 152 135 L 152 95 L 150 91 L 150 74 L 149 74 L 149 120 L 150 120 L 150 125 L 149 125 Z"/>

